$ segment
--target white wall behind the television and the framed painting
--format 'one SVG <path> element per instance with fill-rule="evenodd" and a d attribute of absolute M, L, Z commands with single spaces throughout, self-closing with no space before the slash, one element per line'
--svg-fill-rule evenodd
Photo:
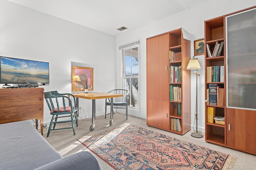
<path fill-rule="evenodd" d="M 50 63 L 45 92 L 70 93 L 72 65 L 94 68 L 94 91 L 108 92 L 116 86 L 114 36 L 6 0 L 0 0 L 0 30 L 2 56 Z M 92 101 L 80 100 L 80 106 L 91 117 Z M 96 101 L 96 113 L 105 113 L 104 99 Z M 44 122 L 50 118 L 44 101 Z"/>

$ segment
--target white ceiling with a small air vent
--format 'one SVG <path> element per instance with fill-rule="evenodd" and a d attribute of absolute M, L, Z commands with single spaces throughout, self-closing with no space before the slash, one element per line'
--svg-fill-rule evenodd
<path fill-rule="evenodd" d="M 110 35 L 118 35 L 207 0 L 8 0 Z M 128 27 L 124 31 L 119 27 Z"/>

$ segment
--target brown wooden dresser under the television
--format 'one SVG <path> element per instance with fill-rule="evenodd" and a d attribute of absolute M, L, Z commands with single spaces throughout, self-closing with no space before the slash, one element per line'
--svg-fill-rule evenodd
<path fill-rule="evenodd" d="M 0 124 L 36 119 L 44 125 L 44 88 L 0 88 Z"/>

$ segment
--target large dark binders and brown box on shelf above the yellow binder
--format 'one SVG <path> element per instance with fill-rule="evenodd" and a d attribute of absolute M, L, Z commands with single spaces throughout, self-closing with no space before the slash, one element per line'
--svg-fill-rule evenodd
<path fill-rule="evenodd" d="M 222 85 L 209 84 L 206 89 L 206 104 L 224 106 L 224 88 Z"/>

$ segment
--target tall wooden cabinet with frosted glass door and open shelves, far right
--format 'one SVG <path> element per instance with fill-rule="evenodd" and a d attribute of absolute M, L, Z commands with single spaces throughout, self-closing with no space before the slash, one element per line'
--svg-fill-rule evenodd
<path fill-rule="evenodd" d="M 205 140 L 251 154 L 256 154 L 255 18 L 256 6 L 204 22 L 205 44 L 211 51 L 224 41 L 219 57 L 210 57 L 205 46 L 205 98 L 210 84 L 224 88 L 224 106 L 205 104 Z M 208 82 L 207 67 L 218 65 L 224 66 L 224 82 Z M 225 118 L 224 125 L 208 122 L 208 107 Z"/>

